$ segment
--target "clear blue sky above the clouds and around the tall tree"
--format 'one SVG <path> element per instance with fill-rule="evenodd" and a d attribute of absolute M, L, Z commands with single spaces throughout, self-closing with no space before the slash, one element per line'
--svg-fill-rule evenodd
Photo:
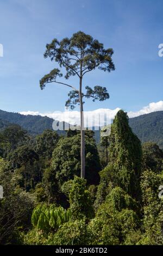
<path fill-rule="evenodd" d="M 110 99 L 88 100 L 85 109 L 123 108 L 139 111 L 163 100 L 162 0 L 0 0 L 0 109 L 12 112 L 64 111 L 68 88 L 49 84 L 39 87 L 40 78 L 55 67 L 43 58 L 53 38 L 70 37 L 84 31 L 114 49 L 116 70 L 94 71 L 84 86 L 108 88 Z M 63 78 L 62 78 L 63 79 Z M 78 81 L 70 79 L 78 86 Z"/>

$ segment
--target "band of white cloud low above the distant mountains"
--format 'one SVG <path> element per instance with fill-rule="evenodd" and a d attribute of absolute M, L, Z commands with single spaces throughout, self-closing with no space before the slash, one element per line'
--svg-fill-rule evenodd
<path fill-rule="evenodd" d="M 101 117 L 100 119 L 100 126 L 103 126 L 105 124 L 105 120 L 104 120 L 104 113 L 106 114 L 107 117 L 107 123 L 111 119 L 114 119 L 116 113 L 120 110 L 121 108 L 115 108 L 115 109 L 109 109 L 109 108 L 99 108 L 96 109 L 94 111 L 85 111 L 84 115 L 85 118 L 87 117 L 87 120 L 91 120 L 92 121 L 92 117 L 94 118 L 94 124 L 95 126 L 99 126 L 99 115 Z M 155 111 L 163 111 L 163 101 L 158 101 L 158 102 L 152 102 L 149 103 L 148 106 L 143 107 L 142 109 L 140 109 L 140 111 L 137 112 L 128 112 L 128 116 L 129 118 L 133 118 L 133 117 L 137 117 L 139 115 L 142 114 L 148 114 L 151 112 L 155 112 Z M 80 113 L 79 111 L 65 111 L 65 112 L 60 112 L 60 111 L 54 111 L 52 113 L 40 113 L 39 111 L 23 111 L 20 112 L 20 114 L 23 115 L 41 115 L 42 117 L 49 117 L 55 120 L 59 120 L 59 121 L 66 121 L 67 123 L 70 123 L 72 125 L 80 124 Z M 88 124 L 88 126 L 91 126 L 91 121 Z M 85 121 L 86 123 L 86 121 Z"/>

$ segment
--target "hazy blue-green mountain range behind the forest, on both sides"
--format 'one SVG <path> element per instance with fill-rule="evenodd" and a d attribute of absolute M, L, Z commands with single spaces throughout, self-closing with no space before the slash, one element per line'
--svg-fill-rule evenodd
<path fill-rule="evenodd" d="M 41 117 L 40 115 L 22 115 L 0 110 L 0 130 L 10 124 L 18 124 L 35 136 L 46 129 L 52 130 L 53 119 Z M 56 124 L 58 121 L 56 120 Z M 141 142 L 155 142 L 163 148 L 163 111 L 152 112 L 129 119 L 130 127 L 139 137 Z M 64 131 L 58 131 L 64 134 Z M 95 138 L 99 142 L 99 131 L 96 131 Z"/>

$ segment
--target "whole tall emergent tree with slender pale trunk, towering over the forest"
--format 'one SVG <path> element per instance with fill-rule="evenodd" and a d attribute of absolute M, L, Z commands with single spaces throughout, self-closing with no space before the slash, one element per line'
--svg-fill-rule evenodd
<path fill-rule="evenodd" d="M 62 73 L 58 68 L 53 69 L 49 74 L 40 80 L 41 89 L 45 88 L 47 83 L 58 83 L 72 88 L 68 94 L 70 97 L 66 106 L 74 108 L 74 105 L 80 106 L 80 130 L 81 130 L 81 177 L 85 177 L 85 139 L 84 139 L 84 116 L 83 116 L 83 97 L 92 97 L 95 100 L 109 99 L 109 94 L 105 87 L 95 86 L 93 89 L 86 86 L 86 92 L 83 93 L 83 78 L 87 72 L 91 72 L 96 68 L 108 71 L 115 70 L 112 62 L 112 48 L 104 49 L 103 44 L 92 36 L 81 31 L 72 35 L 71 38 L 64 38 L 61 41 L 53 39 L 51 44 L 46 45 L 44 57 L 51 58 L 57 62 L 60 68 L 66 69 L 65 79 L 71 76 L 79 78 L 79 89 L 74 88 L 71 84 L 62 82 L 59 78 Z"/>

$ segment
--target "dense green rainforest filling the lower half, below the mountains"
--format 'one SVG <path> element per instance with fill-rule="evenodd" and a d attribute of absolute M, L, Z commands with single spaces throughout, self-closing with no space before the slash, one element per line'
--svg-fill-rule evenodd
<path fill-rule="evenodd" d="M 11 120 L 10 120 L 11 121 Z M 141 145 L 119 111 L 97 145 L 85 132 L 31 137 L 18 125 L 0 132 L 0 244 L 163 245 L 163 153 Z"/>

